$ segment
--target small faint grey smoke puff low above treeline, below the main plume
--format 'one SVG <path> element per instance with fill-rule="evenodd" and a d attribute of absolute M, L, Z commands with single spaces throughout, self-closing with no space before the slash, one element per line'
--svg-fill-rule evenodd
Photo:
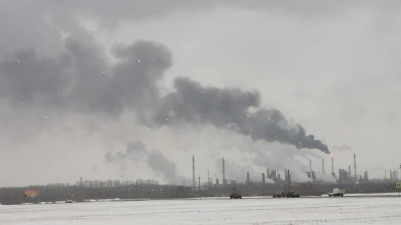
<path fill-rule="evenodd" d="M 130 163 L 145 160 L 151 169 L 161 174 L 170 183 L 177 183 L 181 180 L 173 161 L 170 161 L 159 150 L 148 150 L 141 141 L 130 142 L 124 152 L 118 151 L 113 154 L 111 151 L 107 151 L 105 153 L 107 163 L 118 163 L 123 169 L 127 169 L 125 164 L 121 164 L 125 159 L 128 159 Z"/>

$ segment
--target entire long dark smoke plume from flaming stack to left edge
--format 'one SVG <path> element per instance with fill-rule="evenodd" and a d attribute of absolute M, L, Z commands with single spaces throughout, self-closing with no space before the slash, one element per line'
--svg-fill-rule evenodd
<path fill-rule="evenodd" d="M 65 52 L 54 58 L 39 58 L 33 50 L 17 52 L 0 62 L 0 94 L 14 105 L 112 117 L 135 110 L 138 121 L 154 127 L 213 124 L 254 140 L 329 153 L 301 125 L 289 124 L 281 111 L 262 108 L 257 91 L 202 86 L 177 77 L 174 91 L 160 97 L 157 85 L 172 60 L 162 44 L 115 45 L 112 54 L 118 62 L 110 65 L 103 48 L 93 42 L 89 35 L 72 35 L 65 41 Z"/>

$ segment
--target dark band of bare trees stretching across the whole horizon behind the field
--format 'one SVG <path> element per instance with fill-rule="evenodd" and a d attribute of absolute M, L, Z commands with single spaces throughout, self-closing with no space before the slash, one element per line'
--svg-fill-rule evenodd
<path fill-rule="evenodd" d="M 289 188 L 284 183 L 257 183 L 227 184 L 202 186 L 192 190 L 190 186 L 160 185 L 154 180 L 85 180 L 73 185 L 68 183 L 51 183 L 48 185 L 37 185 L 27 187 L 3 187 L 0 188 L 1 204 L 21 204 L 38 202 L 56 202 L 72 199 L 83 201 L 85 199 L 160 199 L 160 198 L 181 198 L 181 197 L 207 197 L 207 196 L 228 196 L 231 192 L 239 192 L 243 196 L 249 195 L 271 195 L 276 191 L 296 191 L 301 196 L 327 194 L 336 183 L 292 183 Z M 359 183 L 341 184 L 346 193 L 378 193 L 395 192 L 393 182 L 388 183 Z M 34 198 L 24 196 L 24 190 L 35 189 L 39 191 Z"/>

